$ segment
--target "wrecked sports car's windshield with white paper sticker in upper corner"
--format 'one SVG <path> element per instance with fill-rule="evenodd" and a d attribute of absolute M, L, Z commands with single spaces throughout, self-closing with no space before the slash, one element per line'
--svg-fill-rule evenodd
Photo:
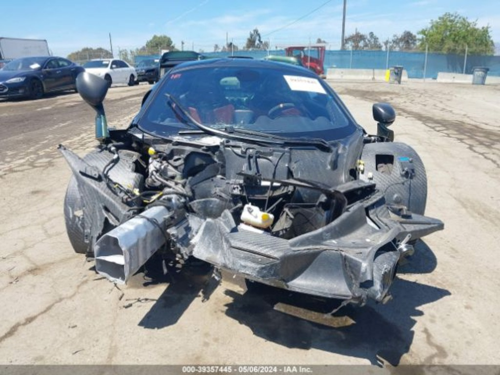
<path fill-rule="evenodd" d="M 169 136 L 196 129 L 191 117 L 215 129 L 285 137 L 333 140 L 355 130 L 333 91 L 307 70 L 283 70 L 277 63 L 236 65 L 170 72 L 143 108 L 139 127 Z"/>

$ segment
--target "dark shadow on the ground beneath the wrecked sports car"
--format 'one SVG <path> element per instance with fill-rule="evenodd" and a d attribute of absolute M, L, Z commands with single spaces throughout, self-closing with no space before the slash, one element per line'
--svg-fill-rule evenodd
<path fill-rule="evenodd" d="M 412 258 L 401 266 L 401 273 L 428 273 L 436 266 L 436 258 L 424 242 L 416 245 Z M 206 267 L 169 271 L 163 277 L 163 282 L 172 278 L 141 319 L 140 326 L 162 328 L 174 324 L 196 297 L 208 298 L 217 285 Z M 371 301 L 362 307 L 348 304 L 330 314 L 340 301 L 260 284 L 244 292 L 234 288 L 223 292 L 232 298 L 225 305 L 225 314 L 268 341 L 392 365 L 399 364 L 401 356 L 409 350 L 415 317 L 423 315 L 418 307 L 450 295 L 445 289 L 396 278 L 391 287 L 393 299 L 387 304 Z"/>

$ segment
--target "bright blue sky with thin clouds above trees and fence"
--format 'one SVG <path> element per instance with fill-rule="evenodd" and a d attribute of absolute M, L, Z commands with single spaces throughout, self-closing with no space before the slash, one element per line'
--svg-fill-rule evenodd
<path fill-rule="evenodd" d="M 271 47 L 326 40 L 340 47 L 343 0 L 162 0 L 1 1 L 0 36 L 47 39 L 54 55 L 83 47 L 135 49 L 154 34 L 176 47 L 212 51 L 226 35 L 242 47 L 257 27 Z M 316 10 L 315 10 L 316 9 Z M 380 41 L 404 30 L 416 32 L 444 12 L 458 12 L 490 26 L 500 42 L 498 0 L 347 0 L 345 34 L 373 31 Z M 310 13 L 310 14 L 309 14 Z"/>

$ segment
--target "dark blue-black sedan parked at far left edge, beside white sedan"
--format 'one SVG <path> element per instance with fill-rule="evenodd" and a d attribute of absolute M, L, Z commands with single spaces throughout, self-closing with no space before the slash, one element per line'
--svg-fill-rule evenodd
<path fill-rule="evenodd" d="M 62 57 L 22 57 L 0 69 L 0 98 L 38 99 L 46 92 L 75 90 L 75 79 L 84 71 Z"/>

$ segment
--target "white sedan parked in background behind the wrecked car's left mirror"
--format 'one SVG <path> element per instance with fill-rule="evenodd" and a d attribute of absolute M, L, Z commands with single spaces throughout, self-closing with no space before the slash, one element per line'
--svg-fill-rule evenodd
<path fill-rule="evenodd" d="M 86 71 L 104 78 L 108 85 L 123 83 L 132 86 L 137 79 L 133 66 L 116 58 L 104 58 L 87 61 L 83 64 Z"/>

